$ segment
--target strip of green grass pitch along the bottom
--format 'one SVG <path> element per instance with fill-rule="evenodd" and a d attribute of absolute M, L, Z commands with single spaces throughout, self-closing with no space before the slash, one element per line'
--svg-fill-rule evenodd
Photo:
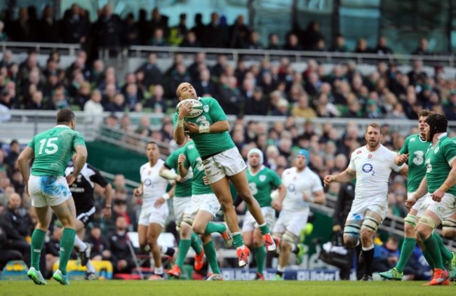
<path fill-rule="evenodd" d="M 34 285 L 32 281 L 0 281 L 1 296 L 139 296 L 139 295 L 455 295 L 455 283 L 423 287 L 419 281 L 55 281 Z"/>

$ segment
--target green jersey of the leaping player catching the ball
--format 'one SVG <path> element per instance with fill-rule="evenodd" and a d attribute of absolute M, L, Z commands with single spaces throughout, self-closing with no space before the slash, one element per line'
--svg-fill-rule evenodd
<path fill-rule="evenodd" d="M 199 97 L 199 101 L 203 104 L 203 113 L 193 119 L 186 118 L 185 121 L 195 123 L 198 126 L 211 126 L 217 121 L 227 120 L 227 115 L 224 114 L 222 107 L 213 97 Z M 175 112 L 174 128 L 176 128 L 178 116 L 179 114 Z M 227 131 L 223 133 L 194 133 L 191 136 L 201 157 L 224 152 L 235 147 Z"/>

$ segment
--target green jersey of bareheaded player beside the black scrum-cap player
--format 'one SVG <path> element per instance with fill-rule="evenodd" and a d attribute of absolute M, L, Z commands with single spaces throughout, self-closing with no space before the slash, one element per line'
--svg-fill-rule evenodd
<path fill-rule="evenodd" d="M 431 142 L 422 140 L 420 134 L 409 135 L 399 154 L 408 154 L 407 191 L 415 192 L 426 174 L 424 157 Z"/>

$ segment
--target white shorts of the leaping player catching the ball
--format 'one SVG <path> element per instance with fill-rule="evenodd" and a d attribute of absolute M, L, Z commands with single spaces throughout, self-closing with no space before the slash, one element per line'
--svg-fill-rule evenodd
<path fill-rule="evenodd" d="M 222 180 L 225 176 L 241 173 L 247 168 L 246 162 L 236 147 L 204 159 L 203 166 L 209 184 Z"/>

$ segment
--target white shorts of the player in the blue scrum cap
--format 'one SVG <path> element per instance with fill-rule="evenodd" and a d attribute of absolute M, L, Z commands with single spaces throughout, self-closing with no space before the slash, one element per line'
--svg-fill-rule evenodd
<path fill-rule="evenodd" d="M 300 211 L 290 212 L 288 210 L 282 210 L 279 219 L 277 219 L 273 234 L 283 234 L 285 231 L 299 237 L 301 230 L 307 224 L 307 218 L 309 218 L 309 208 L 304 208 Z"/>

